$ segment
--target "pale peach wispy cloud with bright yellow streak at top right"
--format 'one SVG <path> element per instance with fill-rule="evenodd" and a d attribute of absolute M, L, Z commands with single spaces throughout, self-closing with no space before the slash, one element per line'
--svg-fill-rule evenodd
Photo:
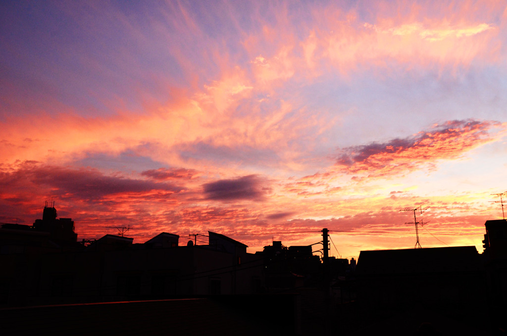
<path fill-rule="evenodd" d="M 446 6 L 461 15 L 441 15 L 448 10 Z M 491 6 L 500 12 L 505 9 L 499 3 Z M 319 25 L 301 42 L 306 66 L 319 76 L 325 73 L 324 69 L 318 69 L 321 64 L 349 76 L 365 66 L 383 73 L 392 62 L 411 69 L 414 65 L 453 68 L 468 66 L 474 59 L 499 60 L 496 47 L 501 44 L 497 39 L 499 22 L 490 22 L 491 15 L 484 15 L 490 9 L 479 8 L 483 6 L 477 3 L 448 2 L 420 7 L 381 2 L 373 7 L 373 16 L 336 8 L 318 13 Z M 431 8 L 435 10 L 431 12 Z M 470 8 L 475 8 L 477 15 L 467 15 Z"/>

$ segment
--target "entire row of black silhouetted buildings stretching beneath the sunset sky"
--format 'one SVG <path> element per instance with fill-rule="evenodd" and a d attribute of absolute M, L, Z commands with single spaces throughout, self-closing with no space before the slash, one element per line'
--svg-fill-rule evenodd
<path fill-rule="evenodd" d="M 481 254 L 475 246 L 361 251 L 356 265 L 280 241 L 248 253 L 245 244 L 211 231 L 204 245 L 182 246 L 167 232 L 142 244 L 112 234 L 85 244 L 74 221 L 57 219 L 54 204 L 46 205 L 33 225 L 0 228 L 0 309 L 119 301 L 149 307 L 154 300 L 199 298 L 185 301 L 198 310 L 209 305 L 202 299 L 213 298 L 220 307 L 261 305 L 248 316 L 270 321 L 276 334 L 369 334 L 379 323 L 405 334 L 423 318 L 443 332 L 495 333 L 507 327 L 507 221 L 485 227 Z M 320 323 L 322 316 L 332 319 Z"/>

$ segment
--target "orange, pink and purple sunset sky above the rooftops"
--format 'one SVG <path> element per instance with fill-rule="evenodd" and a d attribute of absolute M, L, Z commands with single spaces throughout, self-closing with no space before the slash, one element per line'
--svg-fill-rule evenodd
<path fill-rule="evenodd" d="M 504 1 L 0 3 L 0 222 L 482 252 L 506 142 Z"/>

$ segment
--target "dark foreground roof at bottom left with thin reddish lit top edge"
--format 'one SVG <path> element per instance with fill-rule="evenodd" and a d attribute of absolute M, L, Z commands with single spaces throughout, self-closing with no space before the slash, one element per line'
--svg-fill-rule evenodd
<path fill-rule="evenodd" d="M 2 335 L 294 335 L 295 295 L 215 297 L 0 310 Z"/>

